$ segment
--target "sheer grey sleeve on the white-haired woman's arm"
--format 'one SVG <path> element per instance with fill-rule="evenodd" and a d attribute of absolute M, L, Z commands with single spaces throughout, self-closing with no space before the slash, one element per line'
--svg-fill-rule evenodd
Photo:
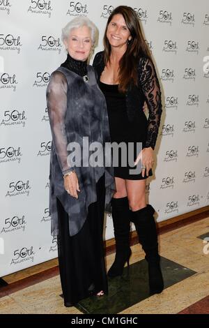
<path fill-rule="evenodd" d="M 68 165 L 68 142 L 65 133 L 68 84 L 61 72 L 52 73 L 47 87 L 47 108 L 52 131 L 52 140 L 63 174 L 72 170 Z"/>

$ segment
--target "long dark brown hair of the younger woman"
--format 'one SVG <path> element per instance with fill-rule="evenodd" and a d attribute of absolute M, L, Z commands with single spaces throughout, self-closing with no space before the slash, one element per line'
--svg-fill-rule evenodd
<path fill-rule="evenodd" d="M 137 65 L 139 63 L 139 58 L 144 56 L 150 58 L 150 51 L 144 40 L 137 13 L 135 13 L 131 7 L 118 6 L 112 11 L 111 15 L 109 15 L 106 29 L 104 31 L 104 64 L 107 65 L 111 54 L 111 45 L 107 39 L 107 27 L 114 15 L 117 14 L 123 15 L 127 29 L 129 29 L 132 36 L 132 39 L 127 41 L 127 50 L 119 61 L 119 89 L 120 91 L 125 92 L 130 82 L 137 85 Z"/>

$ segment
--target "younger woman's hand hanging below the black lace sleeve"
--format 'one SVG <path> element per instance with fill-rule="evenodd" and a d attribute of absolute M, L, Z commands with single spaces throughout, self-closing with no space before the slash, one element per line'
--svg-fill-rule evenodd
<path fill-rule="evenodd" d="M 141 160 L 141 175 L 144 177 L 145 171 L 148 177 L 149 170 L 153 167 L 154 163 L 154 151 L 152 147 L 144 148 L 140 151 L 139 155 L 137 156 L 136 161 L 134 162 L 135 165 L 139 163 Z"/>

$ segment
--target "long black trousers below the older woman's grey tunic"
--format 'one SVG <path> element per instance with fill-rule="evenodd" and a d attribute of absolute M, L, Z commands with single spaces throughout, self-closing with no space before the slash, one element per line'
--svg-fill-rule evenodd
<path fill-rule="evenodd" d="M 69 234 L 69 217 L 57 199 L 59 213 L 58 254 L 61 286 L 65 306 L 100 290 L 107 293 L 107 276 L 104 264 L 104 175 L 96 185 L 98 199 L 88 207 L 86 221 L 75 236 Z M 70 197 L 70 196 L 69 196 Z"/>

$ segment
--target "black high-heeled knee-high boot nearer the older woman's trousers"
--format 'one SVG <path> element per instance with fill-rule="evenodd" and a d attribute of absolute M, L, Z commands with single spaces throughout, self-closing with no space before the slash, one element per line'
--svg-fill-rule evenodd
<path fill-rule="evenodd" d="M 108 271 L 108 276 L 113 278 L 123 274 L 125 262 L 129 265 L 130 249 L 130 216 L 127 197 L 113 198 L 111 200 L 111 216 L 114 224 L 116 240 L 116 258 Z"/>

